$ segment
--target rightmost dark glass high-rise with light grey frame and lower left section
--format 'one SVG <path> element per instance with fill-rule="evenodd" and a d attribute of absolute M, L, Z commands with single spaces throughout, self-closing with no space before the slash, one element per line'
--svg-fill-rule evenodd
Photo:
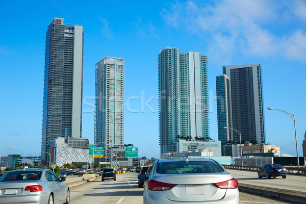
<path fill-rule="evenodd" d="M 240 141 L 239 134 L 223 127 L 239 131 L 242 141 L 265 143 L 261 65 L 223 66 L 223 74 L 216 77 L 216 88 L 221 144 Z"/>

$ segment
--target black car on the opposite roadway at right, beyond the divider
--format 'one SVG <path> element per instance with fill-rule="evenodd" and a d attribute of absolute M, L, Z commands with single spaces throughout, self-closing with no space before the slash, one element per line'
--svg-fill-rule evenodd
<path fill-rule="evenodd" d="M 267 179 L 270 179 L 271 177 L 275 178 L 277 176 L 282 176 L 283 179 L 286 179 L 287 169 L 281 164 L 267 164 L 258 170 L 259 179 L 262 176 L 266 177 Z"/>

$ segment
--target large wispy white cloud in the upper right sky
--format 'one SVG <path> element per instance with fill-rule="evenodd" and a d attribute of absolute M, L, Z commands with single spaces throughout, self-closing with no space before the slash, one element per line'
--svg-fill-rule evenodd
<path fill-rule="evenodd" d="M 276 4 L 274 1 L 237 0 L 220 1 L 215 5 L 189 1 L 164 9 L 161 15 L 174 28 L 210 39 L 208 44 L 217 37 L 211 48 L 217 46 L 216 49 L 226 54 L 238 50 L 243 55 L 283 55 L 305 60 L 302 56 L 305 35 L 302 31 L 293 31 L 290 25 L 295 22 L 295 15 L 306 17 L 303 9 L 306 2 L 299 2 L 301 10 L 288 5 L 290 2 L 286 1 Z"/>

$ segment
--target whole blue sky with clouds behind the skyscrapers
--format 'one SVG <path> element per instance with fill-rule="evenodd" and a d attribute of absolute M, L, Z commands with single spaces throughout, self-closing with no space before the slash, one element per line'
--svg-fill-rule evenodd
<path fill-rule="evenodd" d="M 208 56 L 210 135 L 218 139 L 215 77 L 222 65 L 261 64 L 266 142 L 299 156 L 306 129 L 306 1 L 0 1 L 2 156 L 40 155 L 44 46 L 54 17 L 83 25 L 82 137 L 94 141 L 95 63 L 125 59 L 124 143 L 159 157 L 158 54 L 166 46 Z M 147 106 L 145 104 L 148 104 Z"/>

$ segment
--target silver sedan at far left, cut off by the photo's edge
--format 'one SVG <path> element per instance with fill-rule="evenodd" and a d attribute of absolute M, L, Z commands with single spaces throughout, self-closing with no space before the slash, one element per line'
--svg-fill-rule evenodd
<path fill-rule="evenodd" d="M 18 169 L 0 178 L 0 203 L 69 203 L 65 178 L 49 169 Z"/>

